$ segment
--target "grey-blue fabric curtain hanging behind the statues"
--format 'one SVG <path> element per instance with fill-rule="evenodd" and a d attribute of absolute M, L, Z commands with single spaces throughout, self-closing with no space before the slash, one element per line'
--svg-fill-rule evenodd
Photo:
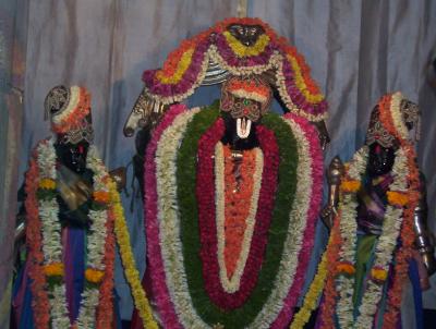
<path fill-rule="evenodd" d="M 44 98 L 51 87 L 59 84 L 82 84 L 90 89 L 98 149 L 110 169 L 125 166 L 134 154 L 134 139 L 122 135 L 122 126 L 142 89 L 142 72 L 161 65 L 183 38 L 197 34 L 221 19 L 237 15 L 239 1 L 7 2 L 13 3 L 20 13 L 22 10 L 28 12 L 25 20 L 28 26 L 25 29 L 27 51 L 22 60 L 26 68 L 23 83 L 24 112 L 13 123 L 20 133 L 12 137 L 15 141 L 9 142 L 12 144 L 8 146 L 16 149 L 11 145 L 21 144 L 21 153 L 8 164 L 0 163 L 0 176 L 12 178 L 16 185 L 17 180 L 22 181 L 32 147 L 38 139 L 49 135 L 49 124 L 43 120 Z M 339 155 L 342 160 L 350 159 L 363 144 L 370 112 L 384 94 L 401 90 L 405 97 L 420 105 L 423 124 L 417 147 L 419 161 L 427 178 L 431 206 L 428 222 L 435 231 L 436 95 L 428 87 L 425 76 L 432 49 L 436 45 L 436 2 L 246 2 L 249 16 L 258 16 L 269 23 L 305 56 L 315 81 L 327 97 L 330 113 L 327 125 L 331 143 L 326 151 L 326 166 L 335 155 Z M 0 7 L 0 17 L 5 15 L 3 12 L 7 7 Z M 216 89 L 210 90 L 210 95 L 219 95 Z M 202 97 L 201 100 L 194 97 L 192 101 L 208 101 L 204 95 Z M 10 118 L 12 112 L 10 109 Z M 4 124 L 2 120 L 0 122 Z M 1 143 L 7 141 L 3 127 L 0 135 Z M 17 164 L 19 173 L 13 171 Z M 16 186 L 9 188 L 14 191 Z M 0 202 L 14 205 L 14 193 L 0 195 Z M 134 252 L 143 271 L 145 242 L 141 199 L 135 203 L 133 212 L 128 210 L 129 198 L 124 196 L 123 202 L 135 243 Z M 8 220 L 2 216 L 0 224 L 12 232 L 11 215 Z M 319 254 L 326 236 L 322 224 L 318 227 L 320 239 L 317 241 L 320 242 L 314 258 Z M 4 236 L 8 234 L 1 235 L 0 247 L 4 251 L 3 247 L 9 246 L 10 254 L 11 240 Z M 3 272 L 9 271 L 9 268 L 3 267 L 8 256 L 1 257 L 0 284 L 3 284 L 1 279 L 7 278 Z M 308 278 L 313 269 L 314 266 Z M 117 287 L 123 305 L 122 317 L 129 318 L 132 305 L 120 263 Z M 3 291 L 1 288 L 0 292 Z M 424 294 L 424 306 L 436 308 L 435 292 Z"/>

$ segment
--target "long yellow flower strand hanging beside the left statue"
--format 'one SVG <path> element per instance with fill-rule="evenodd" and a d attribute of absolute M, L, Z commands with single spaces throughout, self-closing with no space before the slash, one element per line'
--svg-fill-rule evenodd
<path fill-rule="evenodd" d="M 117 235 L 117 242 L 120 247 L 121 260 L 124 266 L 124 275 L 132 289 L 135 307 L 143 320 L 144 328 L 158 329 L 159 327 L 153 318 L 147 295 L 141 285 L 140 272 L 136 269 L 135 259 L 133 258 L 129 230 L 124 218 L 124 210 L 121 206 L 120 194 L 118 193 L 117 185 L 113 181 L 109 183 L 109 188 L 113 204 L 112 209 L 116 217 L 114 231 Z"/>

